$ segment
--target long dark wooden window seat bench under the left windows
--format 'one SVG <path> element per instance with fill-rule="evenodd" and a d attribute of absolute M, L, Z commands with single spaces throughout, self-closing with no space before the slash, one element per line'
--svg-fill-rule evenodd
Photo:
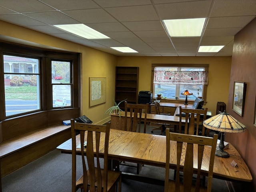
<path fill-rule="evenodd" d="M 1 177 L 44 156 L 71 138 L 71 128 L 62 124 L 62 120 L 78 117 L 79 110 L 66 112 L 67 115 L 58 118 L 54 118 L 56 112 L 47 111 L 0 122 Z"/>

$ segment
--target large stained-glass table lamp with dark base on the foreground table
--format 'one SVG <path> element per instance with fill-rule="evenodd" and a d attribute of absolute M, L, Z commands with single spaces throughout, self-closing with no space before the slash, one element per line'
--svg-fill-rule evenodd
<path fill-rule="evenodd" d="M 216 150 L 215 155 L 219 157 L 229 157 L 228 152 L 224 151 L 224 132 L 227 133 L 242 133 L 245 132 L 246 126 L 232 117 L 226 112 L 221 112 L 211 118 L 206 119 L 204 127 L 221 132 L 219 150 Z"/>

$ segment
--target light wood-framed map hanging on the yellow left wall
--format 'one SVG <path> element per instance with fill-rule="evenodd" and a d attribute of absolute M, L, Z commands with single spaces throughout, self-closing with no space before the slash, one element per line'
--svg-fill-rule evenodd
<path fill-rule="evenodd" d="M 89 106 L 95 106 L 106 102 L 106 78 L 89 77 L 90 102 Z"/>

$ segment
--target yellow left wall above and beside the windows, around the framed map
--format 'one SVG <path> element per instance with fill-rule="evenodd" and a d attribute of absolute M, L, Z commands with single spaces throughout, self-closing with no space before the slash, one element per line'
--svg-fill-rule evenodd
<path fill-rule="evenodd" d="M 95 124 L 103 124 L 109 119 L 104 113 L 113 105 L 117 56 L 1 20 L 0 26 L 0 39 L 6 41 L 82 53 L 82 115 Z M 106 103 L 89 107 L 89 77 L 106 77 Z"/>

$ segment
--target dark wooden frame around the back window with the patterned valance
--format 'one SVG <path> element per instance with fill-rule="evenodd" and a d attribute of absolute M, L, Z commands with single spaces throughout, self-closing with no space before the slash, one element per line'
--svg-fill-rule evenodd
<path fill-rule="evenodd" d="M 206 72 L 209 71 L 209 64 L 152 64 L 151 65 L 151 86 L 150 89 L 154 95 L 154 70 L 156 67 L 182 67 L 182 68 L 204 68 Z M 204 104 L 206 104 L 206 94 L 207 94 L 207 85 L 203 86 L 202 99 L 204 99 Z M 176 100 L 176 99 L 165 99 L 165 102 L 173 102 L 173 103 L 183 103 L 184 100 Z M 189 104 L 193 104 L 194 101 L 188 100 Z"/>

